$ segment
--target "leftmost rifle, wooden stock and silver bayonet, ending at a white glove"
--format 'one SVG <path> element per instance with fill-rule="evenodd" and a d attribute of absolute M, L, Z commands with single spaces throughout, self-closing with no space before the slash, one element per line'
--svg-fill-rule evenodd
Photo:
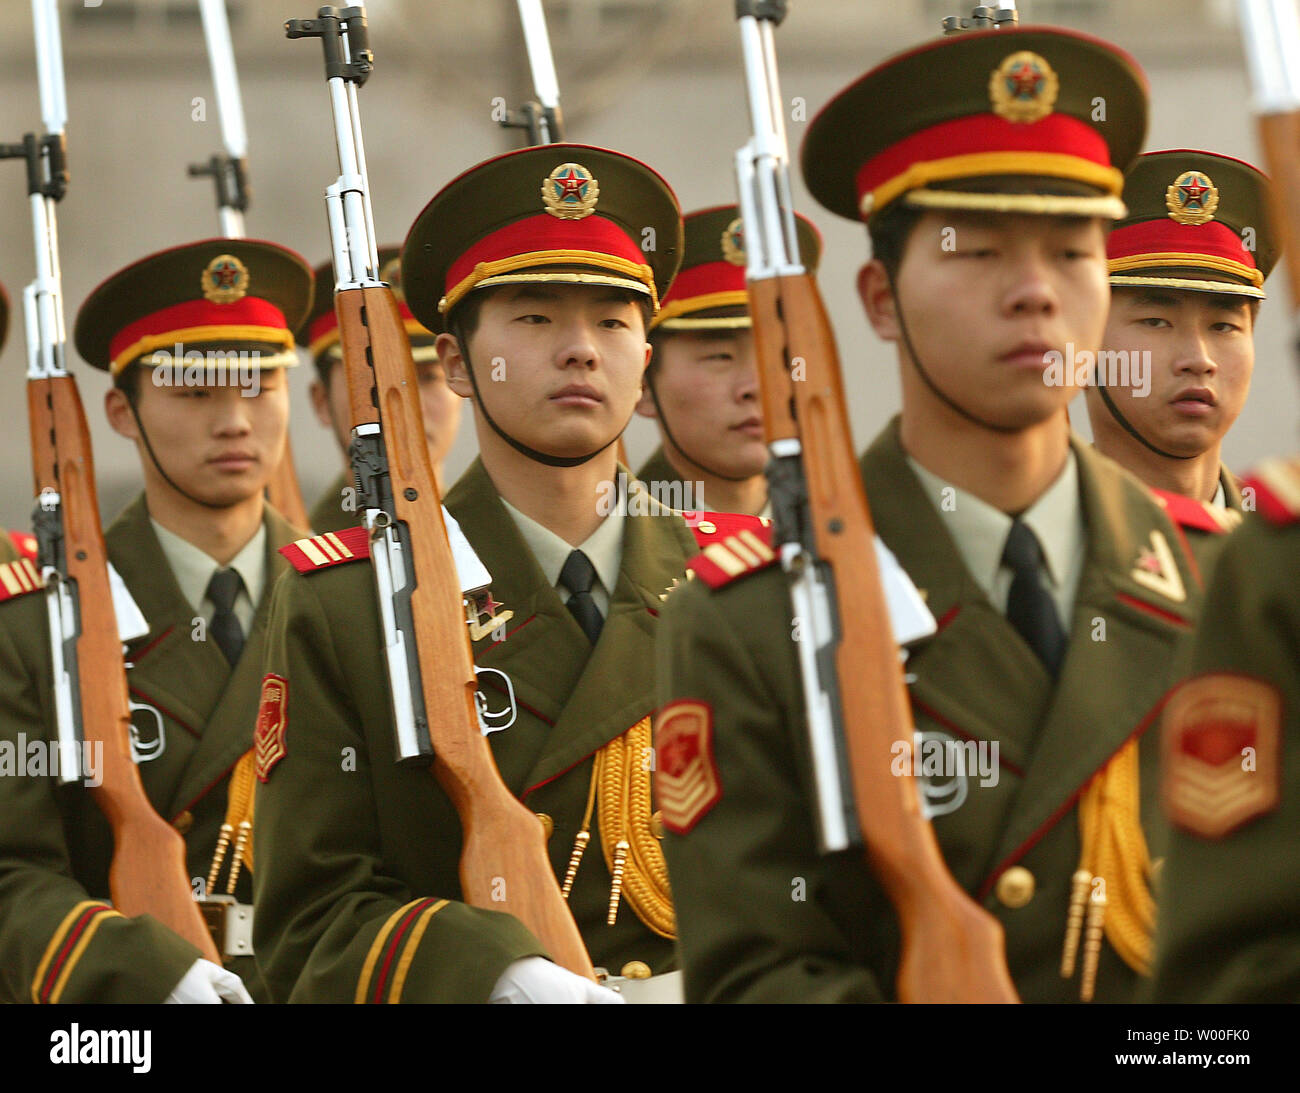
<path fill-rule="evenodd" d="M 131 758 L 131 707 L 113 607 L 110 564 L 95 491 L 90 430 L 66 370 L 56 205 L 68 192 L 62 48 L 56 0 L 32 0 L 36 71 L 46 131 L 0 147 L 27 162 L 36 277 L 23 291 L 27 416 L 36 507 L 32 525 L 44 578 L 60 784 L 88 784 L 83 746 L 101 756 L 88 791 L 113 829 L 109 893 L 124 915 L 148 914 L 207 959 L 221 963 L 190 892 L 185 841 L 153 810 Z M 83 685 L 83 680 L 90 685 Z M 75 762 L 66 762 L 75 756 Z"/>

